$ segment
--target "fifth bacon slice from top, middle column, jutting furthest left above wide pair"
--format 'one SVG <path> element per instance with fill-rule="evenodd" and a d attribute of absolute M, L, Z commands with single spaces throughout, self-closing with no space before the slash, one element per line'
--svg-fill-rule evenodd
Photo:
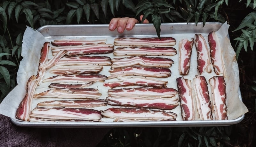
<path fill-rule="evenodd" d="M 108 82 L 104 83 L 104 86 L 108 86 L 110 88 L 116 88 L 120 86 L 133 86 L 133 85 L 138 85 L 138 86 L 145 86 L 145 87 L 154 87 L 154 88 L 163 88 L 166 87 L 166 83 L 168 81 L 160 81 L 156 79 L 151 79 L 151 78 L 119 78 L 121 81 L 114 81 L 114 82 Z"/>

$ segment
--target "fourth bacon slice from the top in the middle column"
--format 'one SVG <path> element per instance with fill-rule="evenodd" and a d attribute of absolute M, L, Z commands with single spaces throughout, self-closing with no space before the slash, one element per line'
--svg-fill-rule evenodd
<path fill-rule="evenodd" d="M 163 67 L 124 67 L 113 68 L 109 70 L 111 74 L 108 79 L 116 78 L 117 76 L 144 76 L 144 77 L 156 77 L 166 78 L 171 76 L 171 70 Z"/>

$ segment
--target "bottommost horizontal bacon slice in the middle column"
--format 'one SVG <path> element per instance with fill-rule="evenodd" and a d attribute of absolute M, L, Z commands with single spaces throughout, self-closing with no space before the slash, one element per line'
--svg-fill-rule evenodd
<path fill-rule="evenodd" d="M 151 110 L 145 108 L 108 108 L 101 112 L 108 118 L 114 118 L 114 122 L 120 119 L 144 120 L 144 121 L 175 121 L 177 114 L 164 110 Z"/>

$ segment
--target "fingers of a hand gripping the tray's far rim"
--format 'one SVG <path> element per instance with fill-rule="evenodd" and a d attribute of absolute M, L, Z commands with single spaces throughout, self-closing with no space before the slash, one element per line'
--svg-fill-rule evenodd
<path fill-rule="evenodd" d="M 140 16 L 140 20 L 142 19 L 143 15 Z M 135 24 L 139 23 L 139 21 L 135 18 L 130 17 L 118 17 L 111 19 L 108 29 L 110 31 L 114 31 L 117 29 L 118 33 L 123 33 L 124 29 L 130 31 L 134 27 Z M 147 19 L 143 21 L 143 23 L 149 23 Z"/>

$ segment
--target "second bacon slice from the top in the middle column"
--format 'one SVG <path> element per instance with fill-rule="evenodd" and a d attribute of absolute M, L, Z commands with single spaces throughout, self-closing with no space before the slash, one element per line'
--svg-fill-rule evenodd
<path fill-rule="evenodd" d="M 177 51 L 173 47 L 117 47 L 114 50 L 115 56 L 174 56 Z"/>

